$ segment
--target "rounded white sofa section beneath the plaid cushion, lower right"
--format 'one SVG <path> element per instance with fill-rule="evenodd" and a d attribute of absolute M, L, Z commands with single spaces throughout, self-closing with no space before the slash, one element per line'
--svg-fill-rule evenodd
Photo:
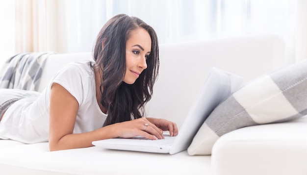
<path fill-rule="evenodd" d="M 307 116 L 231 131 L 212 149 L 214 175 L 306 175 Z"/>

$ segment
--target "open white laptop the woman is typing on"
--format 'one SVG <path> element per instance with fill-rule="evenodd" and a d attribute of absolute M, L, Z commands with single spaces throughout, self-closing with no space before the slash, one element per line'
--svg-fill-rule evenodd
<path fill-rule="evenodd" d="M 205 80 L 200 94 L 189 110 L 179 134 L 171 137 L 166 132 L 165 139 L 149 140 L 144 137 L 114 138 L 94 141 L 98 147 L 112 150 L 131 150 L 143 152 L 175 154 L 187 150 L 195 134 L 211 111 L 223 100 L 236 91 L 243 78 L 218 68 L 212 68 Z"/>

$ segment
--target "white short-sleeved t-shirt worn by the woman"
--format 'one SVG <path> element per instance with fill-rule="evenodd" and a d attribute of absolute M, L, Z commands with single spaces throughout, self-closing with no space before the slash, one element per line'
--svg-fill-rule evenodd
<path fill-rule="evenodd" d="M 18 100 L 11 105 L 0 123 L 0 138 L 23 143 L 48 142 L 50 92 L 54 82 L 70 92 L 79 104 L 74 133 L 101 128 L 107 115 L 97 103 L 95 74 L 90 65 L 91 61 L 85 61 L 64 66 L 38 98 Z"/>

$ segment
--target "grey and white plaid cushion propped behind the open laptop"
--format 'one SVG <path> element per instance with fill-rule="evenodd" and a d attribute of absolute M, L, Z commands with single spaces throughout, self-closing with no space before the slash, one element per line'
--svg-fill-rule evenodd
<path fill-rule="evenodd" d="M 307 60 L 262 75 L 220 103 L 205 120 L 190 155 L 210 155 L 216 140 L 235 129 L 307 115 Z"/>

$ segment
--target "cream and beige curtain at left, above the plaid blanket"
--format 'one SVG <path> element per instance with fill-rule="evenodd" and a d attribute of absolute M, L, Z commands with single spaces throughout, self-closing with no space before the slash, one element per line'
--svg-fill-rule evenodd
<path fill-rule="evenodd" d="M 66 52 L 61 0 L 15 0 L 15 52 Z"/>

